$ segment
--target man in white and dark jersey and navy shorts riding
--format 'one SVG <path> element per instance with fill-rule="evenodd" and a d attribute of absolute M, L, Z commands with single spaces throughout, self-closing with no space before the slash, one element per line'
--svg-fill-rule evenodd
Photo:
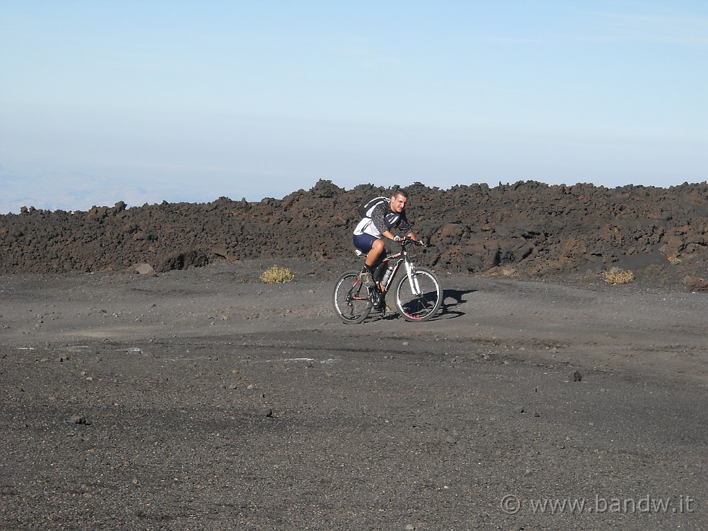
<path fill-rule="evenodd" d="M 372 273 L 379 256 L 384 252 L 384 237 L 393 241 L 401 239 L 401 236 L 394 235 L 391 229 L 395 227 L 408 231 L 407 236 L 416 239 L 404 210 L 407 201 L 408 192 L 398 188 L 391 195 L 391 199 L 379 203 L 371 212 L 367 212 L 369 215 L 363 217 L 354 229 L 354 246 L 367 253 L 366 263 L 360 275 L 367 287 L 375 285 Z"/>

